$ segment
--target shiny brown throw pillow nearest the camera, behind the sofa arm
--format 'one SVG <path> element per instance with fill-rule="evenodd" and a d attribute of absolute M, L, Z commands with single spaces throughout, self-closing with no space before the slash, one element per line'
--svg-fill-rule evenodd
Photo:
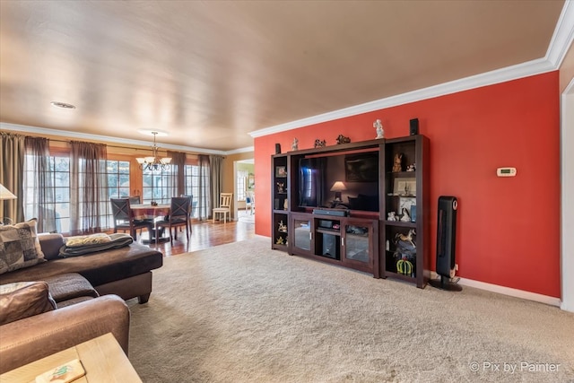
<path fill-rule="evenodd" d="M 56 309 L 46 282 L 0 285 L 0 326 Z"/>

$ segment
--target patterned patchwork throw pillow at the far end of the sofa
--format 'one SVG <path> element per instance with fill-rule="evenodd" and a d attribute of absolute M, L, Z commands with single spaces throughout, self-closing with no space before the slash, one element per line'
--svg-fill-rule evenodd
<path fill-rule="evenodd" d="M 0 226 L 0 274 L 45 262 L 36 219 Z"/>

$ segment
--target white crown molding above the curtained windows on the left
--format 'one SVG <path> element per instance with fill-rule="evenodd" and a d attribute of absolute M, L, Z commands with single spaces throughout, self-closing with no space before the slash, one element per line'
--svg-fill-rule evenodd
<path fill-rule="evenodd" d="M 60 137 L 65 137 L 67 139 L 70 138 L 79 138 L 84 140 L 95 140 L 95 141 L 103 141 L 106 143 L 113 143 L 113 144 L 123 144 L 123 145 L 139 145 L 139 146 L 150 146 L 150 141 L 140 141 L 140 140 L 131 140 L 128 138 L 117 138 L 111 137 L 109 135 L 89 135 L 85 133 L 77 133 L 77 132 L 70 132 L 67 130 L 58 130 L 58 129 L 49 129 L 47 127 L 39 127 L 39 126 L 27 126 L 27 125 L 18 125 L 18 124 L 8 124 L 5 122 L 0 122 L 0 130 L 10 130 L 19 133 L 33 133 L 36 135 L 56 135 Z M 223 151 L 216 151 L 212 149 L 203 149 L 203 148 L 196 148 L 193 146 L 180 146 L 180 145 L 171 145 L 171 144 L 161 144 L 161 149 L 170 149 L 175 151 L 184 151 L 184 152 L 199 152 L 199 153 L 208 153 L 208 154 L 220 154 L 224 155 L 226 152 Z"/>

